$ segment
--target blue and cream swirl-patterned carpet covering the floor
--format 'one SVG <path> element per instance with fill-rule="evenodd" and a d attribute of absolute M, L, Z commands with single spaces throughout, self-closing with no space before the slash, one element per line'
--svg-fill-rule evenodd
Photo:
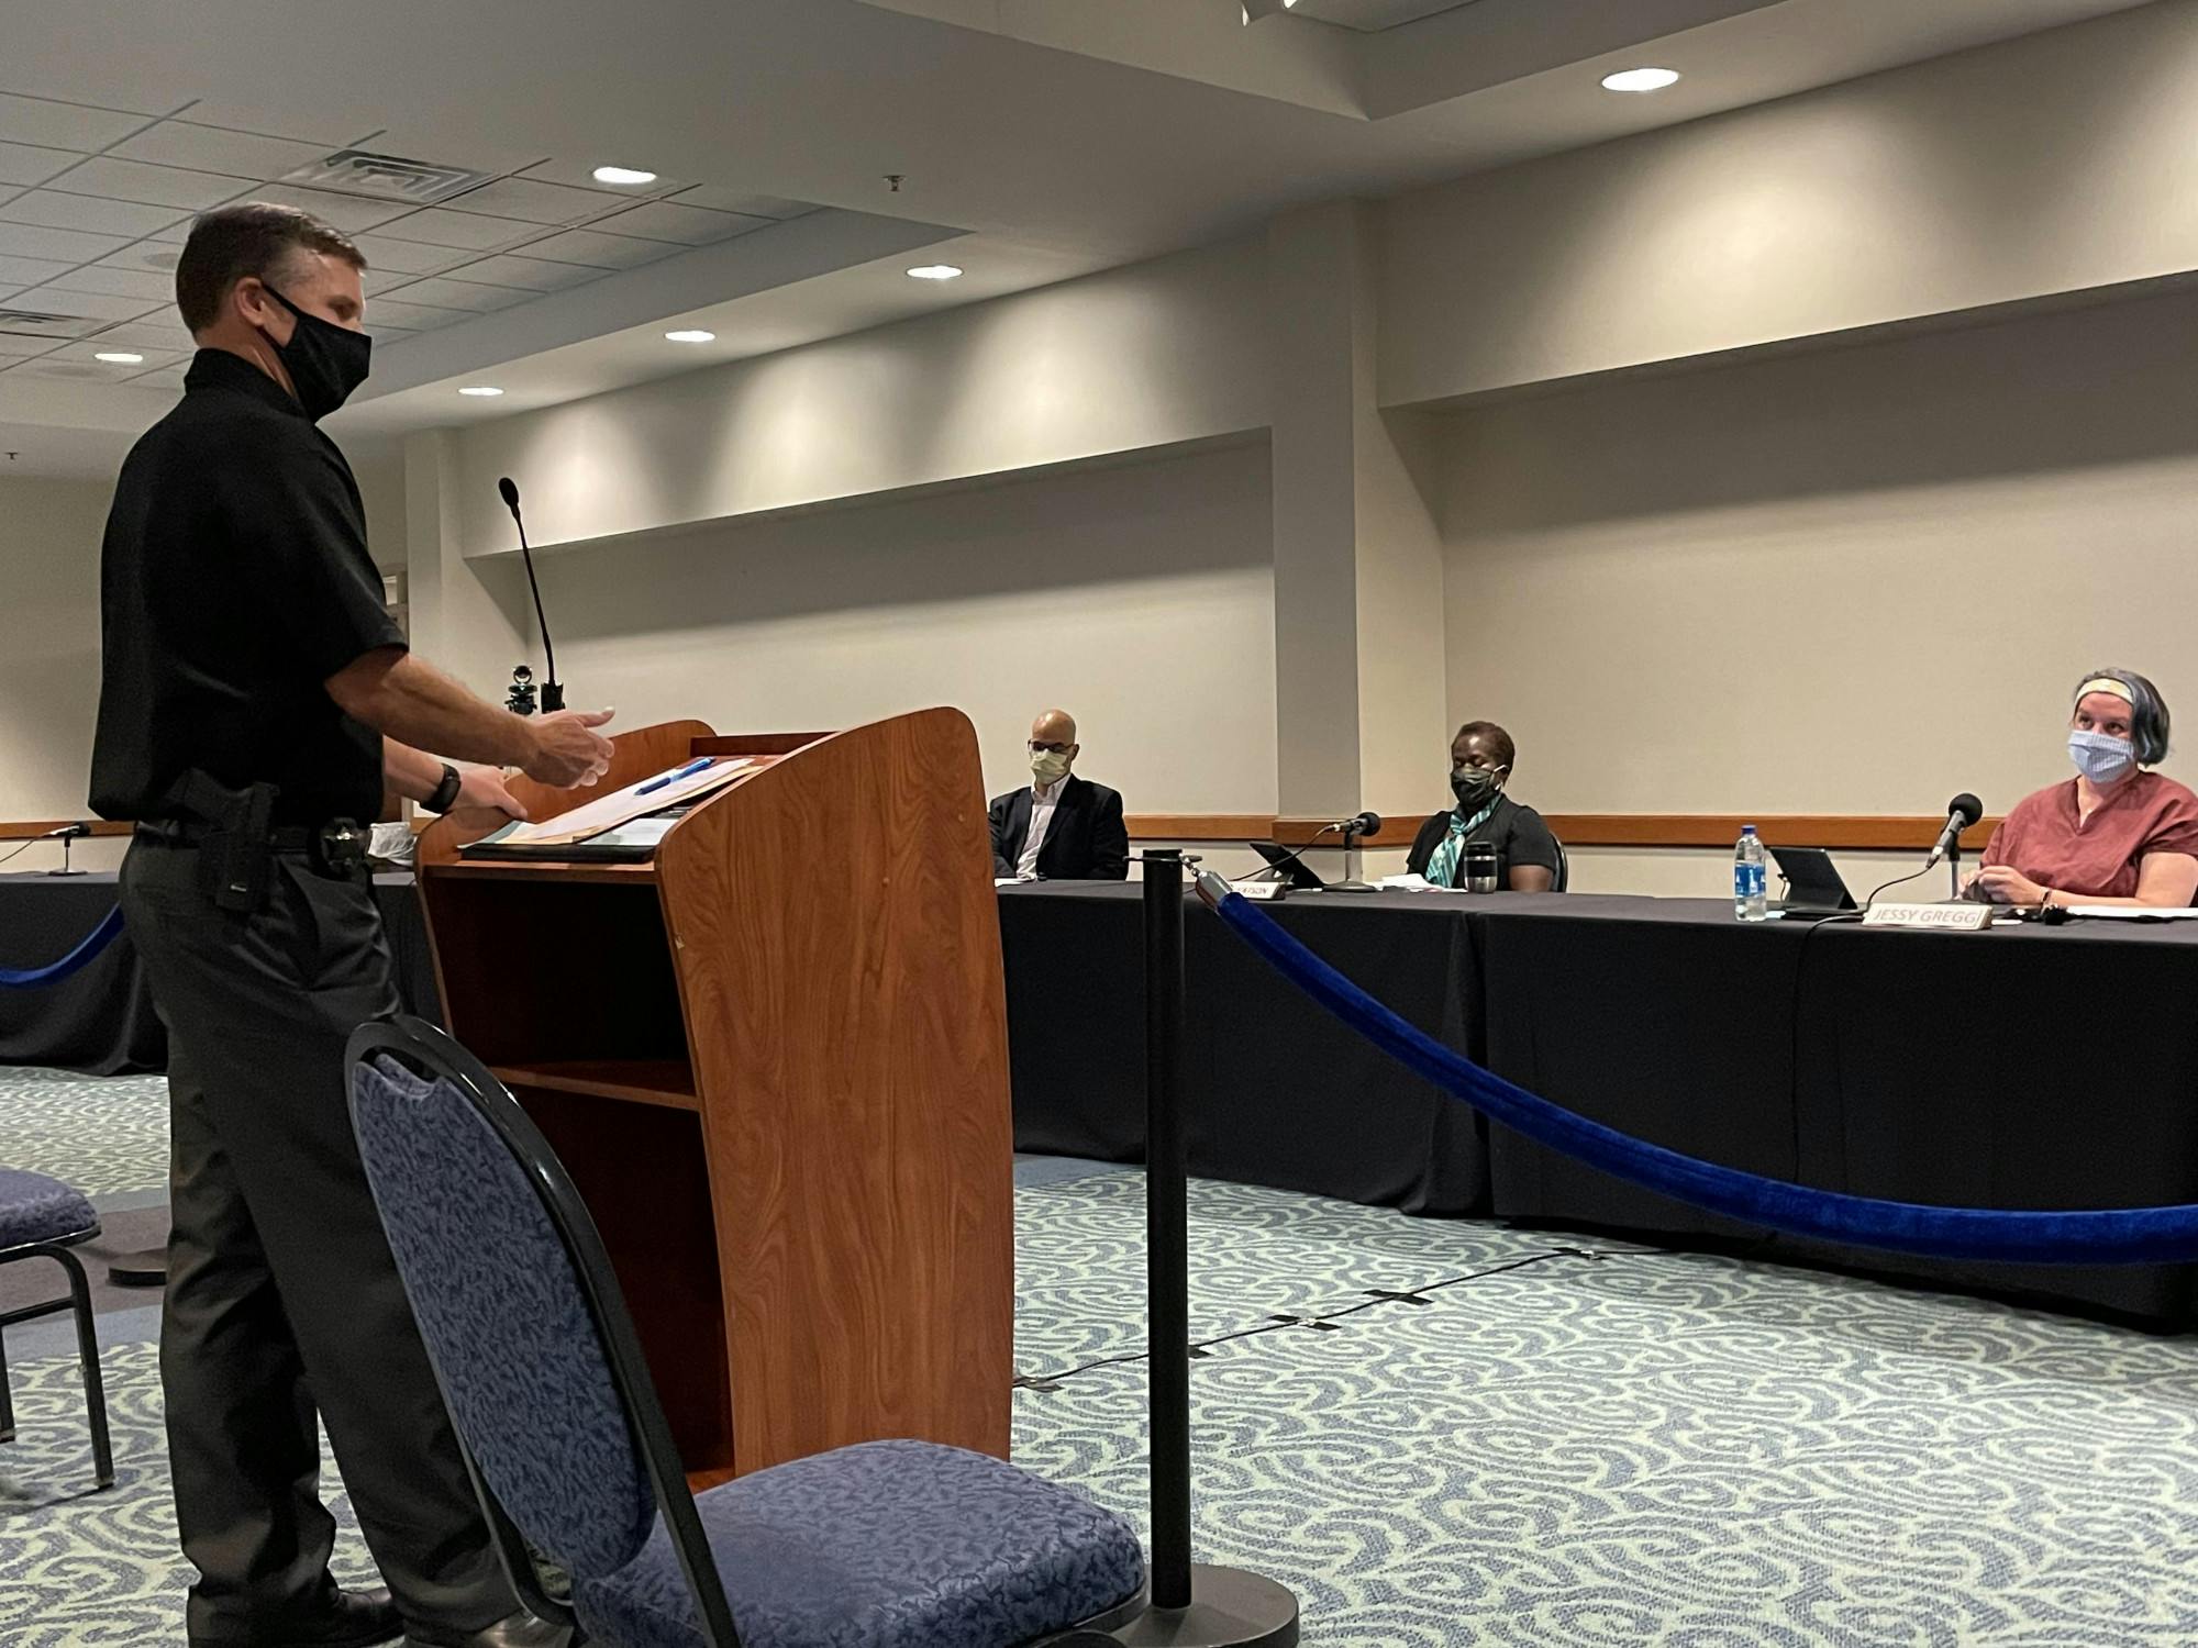
<path fill-rule="evenodd" d="M 1018 1180 L 1015 1459 L 1143 1525 L 1143 1182 Z M 1292 1584 L 1308 1644 L 2198 1641 L 2189 1340 L 1235 1184 L 1194 1184 L 1191 1255 L 1200 1558 Z M 15 1362 L 7 1648 L 182 1639 L 152 1347 L 106 1369 L 90 1494 L 73 1362 Z"/>

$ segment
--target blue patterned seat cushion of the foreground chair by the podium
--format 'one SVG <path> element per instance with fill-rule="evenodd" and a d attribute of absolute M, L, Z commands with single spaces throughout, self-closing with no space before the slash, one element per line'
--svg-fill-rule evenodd
<path fill-rule="evenodd" d="M 1009 1648 L 1136 1595 L 1136 1532 L 1068 1488 L 932 1441 L 864 1441 L 697 1499 L 743 1648 Z M 576 1591 L 622 1648 L 703 1641 L 662 1521 Z"/>

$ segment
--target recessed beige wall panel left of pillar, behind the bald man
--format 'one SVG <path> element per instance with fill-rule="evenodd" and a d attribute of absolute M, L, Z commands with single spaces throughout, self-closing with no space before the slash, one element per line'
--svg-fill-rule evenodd
<path fill-rule="evenodd" d="M 541 556 L 571 705 L 844 727 L 952 703 L 985 782 L 1031 716 L 1130 811 L 1275 806 L 1266 444 Z M 499 567 L 501 571 L 501 567 Z M 510 668 L 510 659 L 499 659 Z"/>

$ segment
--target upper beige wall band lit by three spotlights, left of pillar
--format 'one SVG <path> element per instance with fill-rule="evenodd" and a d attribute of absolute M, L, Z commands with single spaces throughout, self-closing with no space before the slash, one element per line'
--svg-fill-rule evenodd
<path fill-rule="evenodd" d="M 459 437 L 468 556 L 1266 428 L 1264 261 L 1209 246 L 519 413 Z"/>

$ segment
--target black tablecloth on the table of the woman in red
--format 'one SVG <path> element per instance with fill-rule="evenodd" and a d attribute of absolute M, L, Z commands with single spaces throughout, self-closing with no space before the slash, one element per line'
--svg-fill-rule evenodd
<path fill-rule="evenodd" d="M 1991 1209 L 2198 1202 L 2198 925 L 1750 925 L 1730 903 L 1475 912 L 1488 1066 L 1657 1145 L 1827 1191 Z M 1758 1237 L 1490 1129 L 1499 1215 Z M 2187 1325 L 2191 1266 L 1774 1252 Z"/>

